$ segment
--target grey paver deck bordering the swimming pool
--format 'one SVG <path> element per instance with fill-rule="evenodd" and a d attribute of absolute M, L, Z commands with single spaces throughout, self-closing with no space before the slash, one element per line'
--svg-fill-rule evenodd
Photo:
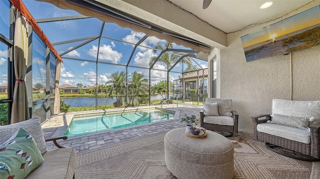
<path fill-rule="evenodd" d="M 151 106 L 151 107 L 159 107 L 159 106 Z M 175 111 L 176 105 L 163 105 L 164 109 L 174 110 Z M 145 107 L 138 107 L 140 108 L 150 108 L 150 106 Z M 129 109 L 137 109 L 137 108 L 122 108 L 122 110 L 129 110 Z M 104 146 L 108 146 L 111 144 L 129 141 L 133 139 L 137 139 L 140 137 L 161 133 L 164 131 L 169 131 L 174 128 L 184 127 L 184 123 L 180 123 L 180 118 L 187 115 L 195 115 L 200 117 L 200 109 L 202 106 L 191 105 L 191 104 L 179 104 L 178 111 L 179 116 L 178 119 L 170 119 L 161 122 L 154 122 L 154 123 L 147 123 L 132 127 L 114 129 L 114 130 L 107 130 L 97 133 L 79 135 L 74 137 L 69 137 L 67 140 L 59 140 L 58 142 L 65 147 L 72 147 L 78 153 L 85 150 L 96 149 Z M 114 109 L 113 109 L 114 110 Z M 110 110 L 95 110 L 92 113 L 99 112 L 99 111 L 112 111 Z M 65 114 L 60 114 L 55 117 L 52 117 L 49 121 L 46 121 L 42 124 L 42 129 L 44 132 L 45 138 L 50 138 L 52 135 L 63 135 L 66 129 L 66 116 L 69 114 L 80 114 L 80 113 L 89 113 L 88 111 L 85 112 L 69 112 Z M 62 130 L 57 131 L 59 127 L 63 127 Z M 61 129 L 61 128 L 59 128 Z M 252 133 L 247 133 L 244 131 L 239 131 L 238 134 L 233 134 L 233 136 L 239 136 L 242 139 L 246 139 L 248 141 L 254 141 L 257 143 L 261 143 L 261 141 L 254 140 Z M 56 148 L 52 142 L 47 142 L 48 150 Z"/>

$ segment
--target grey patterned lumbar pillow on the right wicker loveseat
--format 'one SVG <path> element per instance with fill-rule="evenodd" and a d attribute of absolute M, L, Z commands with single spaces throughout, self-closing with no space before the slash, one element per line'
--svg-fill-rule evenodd
<path fill-rule="evenodd" d="M 273 114 L 270 124 L 279 124 L 283 126 L 308 130 L 309 118 Z"/>

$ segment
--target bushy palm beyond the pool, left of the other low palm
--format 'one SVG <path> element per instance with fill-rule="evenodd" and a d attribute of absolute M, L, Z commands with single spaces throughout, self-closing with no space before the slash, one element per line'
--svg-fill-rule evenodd
<path fill-rule="evenodd" d="M 111 80 L 106 82 L 106 84 L 111 84 L 112 91 L 115 92 L 116 95 L 116 102 L 113 103 L 114 107 L 121 107 L 122 106 L 122 94 L 125 94 L 125 72 L 124 71 L 117 71 L 110 75 Z"/>

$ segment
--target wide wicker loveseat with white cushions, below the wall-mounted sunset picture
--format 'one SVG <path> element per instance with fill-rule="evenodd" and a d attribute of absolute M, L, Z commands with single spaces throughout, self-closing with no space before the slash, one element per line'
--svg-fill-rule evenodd
<path fill-rule="evenodd" d="M 284 121 L 282 124 L 272 124 L 272 115 L 284 116 L 281 120 L 302 119 L 306 121 L 306 129 L 297 129 L 288 126 L 290 122 Z M 272 115 L 253 116 L 254 139 L 264 141 L 267 146 L 281 147 L 283 149 L 275 152 L 287 157 L 305 160 L 318 161 L 320 158 L 320 101 L 290 101 L 273 99 Z M 309 118 L 313 118 L 312 121 Z M 274 119 L 275 120 L 275 119 Z M 311 121 L 311 122 L 309 122 Z M 282 121 L 283 122 L 283 121 Z M 284 126 L 283 124 L 288 124 Z M 309 129 L 308 129 L 309 128 Z M 291 150 L 292 153 L 287 151 Z M 301 153 L 305 156 L 298 156 Z M 291 155 L 293 154 L 293 155 Z"/>

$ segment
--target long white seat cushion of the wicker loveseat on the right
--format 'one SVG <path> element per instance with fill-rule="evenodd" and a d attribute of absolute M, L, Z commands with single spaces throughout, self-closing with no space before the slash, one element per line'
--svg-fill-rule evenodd
<path fill-rule="evenodd" d="M 262 123 L 256 126 L 256 130 L 261 133 L 270 134 L 272 136 L 289 139 L 304 144 L 310 144 L 310 132 L 278 124 Z"/>

